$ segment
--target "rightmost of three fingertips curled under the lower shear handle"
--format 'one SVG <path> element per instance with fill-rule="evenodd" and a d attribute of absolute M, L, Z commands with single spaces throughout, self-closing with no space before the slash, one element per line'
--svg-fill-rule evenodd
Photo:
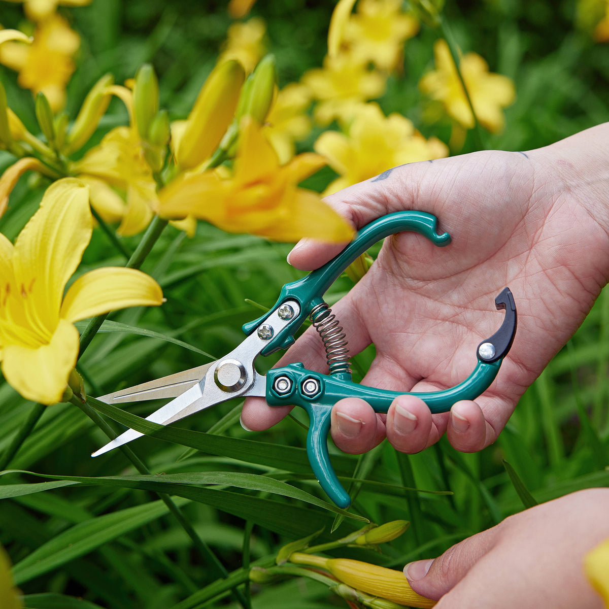
<path fill-rule="evenodd" d="M 482 408 L 468 400 L 453 404 L 446 436 L 451 445 L 462 452 L 481 451 L 497 439 L 497 433 L 484 418 Z"/>

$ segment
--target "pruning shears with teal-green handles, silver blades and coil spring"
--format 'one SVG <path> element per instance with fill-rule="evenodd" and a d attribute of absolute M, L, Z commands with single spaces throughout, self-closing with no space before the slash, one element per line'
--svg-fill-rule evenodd
<path fill-rule="evenodd" d="M 307 453 L 311 468 L 323 490 L 339 507 L 351 499 L 340 485 L 328 455 L 330 413 L 346 397 L 363 398 L 376 412 L 387 412 L 393 399 L 406 392 L 365 387 L 351 379 L 347 339 L 342 326 L 323 300 L 323 294 L 358 256 L 380 239 L 401 231 L 420 233 L 434 245 L 451 242 L 448 233 L 437 233 L 437 218 L 421 211 L 398 211 L 383 216 L 358 233 L 354 241 L 331 261 L 304 278 L 287 283 L 269 312 L 242 326 L 245 340 L 233 351 L 210 364 L 144 382 L 98 398 L 107 404 L 174 398 L 153 412 L 147 420 L 168 425 L 232 398 L 262 396 L 269 406 L 287 404 L 303 407 L 309 415 Z M 459 400 L 474 400 L 488 389 L 516 334 L 516 306 L 509 288 L 495 298 L 496 308 L 505 311 L 499 330 L 476 349 L 477 363 L 463 382 L 450 389 L 411 393 L 421 398 L 431 412 L 448 412 Z M 259 355 L 269 355 L 294 343 L 294 334 L 310 317 L 326 349 L 329 374 L 307 370 L 297 362 L 273 368 L 261 375 L 254 367 Z M 97 457 L 135 440 L 141 434 L 128 429 L 93 453 Z"/>

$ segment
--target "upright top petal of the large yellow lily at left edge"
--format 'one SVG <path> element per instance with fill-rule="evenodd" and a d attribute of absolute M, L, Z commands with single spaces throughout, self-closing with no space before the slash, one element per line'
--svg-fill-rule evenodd
<path fill-rule="evenodd" d="M 44 193 L 40 209 L 15 242 L 13 267 L 25 308 L 41 336 L 57 326 L 63 289 L 91 239 L 89 188 L 75 178 L 58 180 Z"/>

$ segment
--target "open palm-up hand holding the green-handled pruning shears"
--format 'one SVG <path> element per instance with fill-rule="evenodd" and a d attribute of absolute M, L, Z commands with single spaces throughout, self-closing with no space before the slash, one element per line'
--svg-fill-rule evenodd
<path fill-rule="evenodd" d="M 475 402 L 431 415 L 423 401 L 404 395 L 387 415 L 376 415 L 362 400 L 339 401 L 331 432 L 342 451 L 368 451 L 387 435 L 396 449 L 418 452 L 445 431 L 460 451 L 495 441 L 607 283 L 608 132 L 605 124 L 527 153 L 477 152 L 396 167 L 328 197 L 357 228 L 392 211 L 420 209 L 452 236 L 446 248 L 414 233 L 386 239 L 368 273 L 333 307 L 351 353 L 375 344 L 362 384 L 404 392 L 452 387 L 473 369 L 477 344 L 499 327 L 493 303 L 504 286 L 519 318 L 498 378 Z M 289 261 L 314 269 L 339 251 L 304 240 Z M 294 361 L 323 370 L 314 329 L 280 365 Z M 288 410 L 248 398 L 242 424 L 267 429 Z"/>

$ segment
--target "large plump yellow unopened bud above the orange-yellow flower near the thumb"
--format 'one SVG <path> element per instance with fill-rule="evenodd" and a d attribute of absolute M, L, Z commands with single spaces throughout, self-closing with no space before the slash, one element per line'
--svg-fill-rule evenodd
<path fill-rule="evenodd" d="M 233 120 L 239 91 L 245 79 L 241 63 L 228 60 L 209 74 L 188 116 L 177 150 L 182 169 L 196 167 L 216 150 Z"/>

